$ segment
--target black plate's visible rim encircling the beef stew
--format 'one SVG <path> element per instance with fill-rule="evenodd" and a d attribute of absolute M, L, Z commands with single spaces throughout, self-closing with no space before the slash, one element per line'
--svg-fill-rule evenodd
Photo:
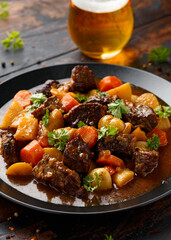
<path fill-rule="evenodd" d="M 12 99 L 14 94 L 21 89 L 33 88 L 37 85 L 44 83 L 47 79 L 69 78 L 72 68 L 78 64 L 80 63 L 63 64 L 53 67 L 42 68 L 5 81 L 3 84 L 0 85 L 0 107 L 2 107 L 6 102 Z M 93 70 L 93 73 L 96 77 L 102 78 L 107 75 L 115 75 L 122 79 L 122 81 L 124 82 L 130 82 L 131 84 L 153 92 L 156 96 L 163 99 L 163 101 L 165 101 L 168 105 L 171 105 L 170 83 L 160 77 L 157 77 L 145 71 L 124 66 L 100 63 L 86 63 L 82 65 L 88 65 L 89 68 Z M 17 191 L 16 189 L 5 183 L 2 179 L 0 179 L 0 194 L 3 197 L 6 197 L 21 205 L 49 213 L 97 214 L 116 212 L 149 204 L 163 198 L 164 196 L 169 195 L 170 193 L 171 177 L 168 179 L 167 184 L 161 184 L 154 190 L 131 200 L 103 206 L 74 207 L 57 205 L 34 199 L 30 196 L 23 194 L 22 192 Z"/>

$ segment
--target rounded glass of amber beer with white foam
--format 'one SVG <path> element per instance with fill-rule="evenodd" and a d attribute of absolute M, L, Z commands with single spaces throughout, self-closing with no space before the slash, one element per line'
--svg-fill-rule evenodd
<path fill-rule="evenodd" d="M 118 54 L 133 31 L 130 0 L 71 0 L 68 29 L 87 56 L 106 59 Z"/>

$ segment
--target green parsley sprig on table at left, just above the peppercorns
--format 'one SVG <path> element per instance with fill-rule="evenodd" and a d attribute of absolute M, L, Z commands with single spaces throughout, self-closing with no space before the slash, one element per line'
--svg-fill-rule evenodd
<path fill-rule="evenodd" d="M 7 38 L 1 40 L 1 43 L 6 48 L 13 48 L 14 50 L 23 48 L 24 42 L 20 37 L 20 32 L 12 31 L 11 33 L 7 33 Z"/>

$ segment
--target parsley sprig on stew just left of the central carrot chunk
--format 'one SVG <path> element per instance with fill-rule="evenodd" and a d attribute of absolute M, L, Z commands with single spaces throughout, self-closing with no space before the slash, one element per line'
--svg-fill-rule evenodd
<path fill-rule="evenodd" d="M 49 145 L 56 147 L 60 151 L 65 149 L 68 139 L 70 138 L 69 132 L 64 128 L 61 128 L 60 132 L 48 132 L 47 136 Z"/>

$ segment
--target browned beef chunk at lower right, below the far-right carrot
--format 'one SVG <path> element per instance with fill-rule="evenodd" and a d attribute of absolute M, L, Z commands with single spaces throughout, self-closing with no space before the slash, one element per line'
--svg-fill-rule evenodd
<path fill-rule="evenodd" d="M 158 166 L 159 153 L 155 150 L 146 150 L 136 147 L 133 154 L 135 172 L 142 177 L 153 172 Z"/>

